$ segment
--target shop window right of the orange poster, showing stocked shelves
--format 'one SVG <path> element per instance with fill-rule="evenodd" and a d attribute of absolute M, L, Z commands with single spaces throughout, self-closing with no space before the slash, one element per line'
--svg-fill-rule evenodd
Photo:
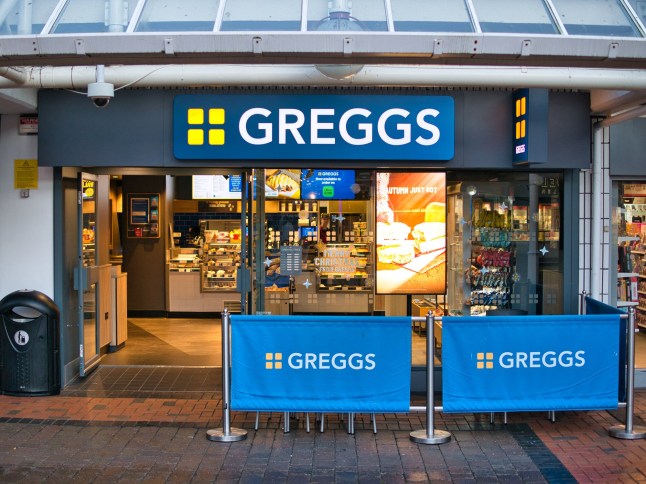
<path fill-rule="evenodd" d="M 449 185 L 450 314 L 562 313 L 562 177 L 505 178 Z"/>

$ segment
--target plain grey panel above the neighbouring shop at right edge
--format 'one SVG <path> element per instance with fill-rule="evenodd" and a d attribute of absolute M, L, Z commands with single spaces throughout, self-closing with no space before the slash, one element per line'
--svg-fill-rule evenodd
<path fill-rule="evenodd" d="M 610 176 L 646 176 L 646 119 L 610 127 Z"/>

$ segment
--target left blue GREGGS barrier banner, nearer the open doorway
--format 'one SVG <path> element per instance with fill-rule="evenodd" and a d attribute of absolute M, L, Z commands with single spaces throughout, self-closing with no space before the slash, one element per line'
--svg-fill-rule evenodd
<path fill-rule="evenodd" d="M 231 408 L 408 412 L 411 319 L 231 316 Z"/>

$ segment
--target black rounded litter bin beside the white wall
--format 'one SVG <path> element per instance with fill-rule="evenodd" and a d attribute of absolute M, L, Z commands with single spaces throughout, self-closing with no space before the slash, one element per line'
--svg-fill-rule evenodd
<path fill-rule="evenodd" d="M 15 291 L 0 301 L 0 390 L 5 395 L 61 391 L 59 315 L 38 291 Z"/>

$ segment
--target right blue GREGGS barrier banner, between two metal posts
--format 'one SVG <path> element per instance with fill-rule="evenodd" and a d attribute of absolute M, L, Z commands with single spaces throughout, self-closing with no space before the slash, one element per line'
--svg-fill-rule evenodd
<path fill-rule="evenodd" d="M 442 318 L 445 412 L 618 406 L 619 315 Z"/>

